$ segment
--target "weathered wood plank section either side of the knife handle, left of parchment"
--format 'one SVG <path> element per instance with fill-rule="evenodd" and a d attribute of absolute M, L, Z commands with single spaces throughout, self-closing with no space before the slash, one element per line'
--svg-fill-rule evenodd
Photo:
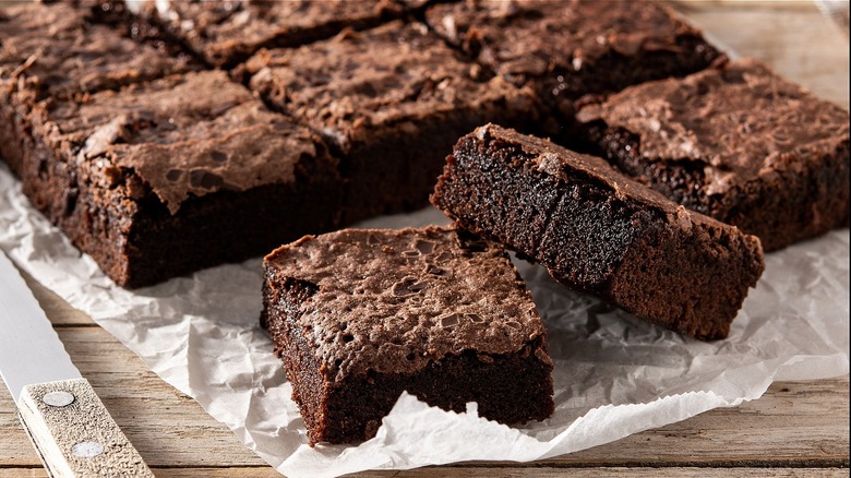
<path fill-rule="evenodd" d="M 61 327 L 58 333 L 81 373 L 151 466 L 263 466 L 224 425 L 165 383 L 100 327 Z M 0 391 L 0 466 L 38 465 Z"/>

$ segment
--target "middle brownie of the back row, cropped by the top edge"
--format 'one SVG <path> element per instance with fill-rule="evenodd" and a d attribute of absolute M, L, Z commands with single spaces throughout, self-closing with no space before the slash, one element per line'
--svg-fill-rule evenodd
<path fill-rule="evenodd" d="M 404 13 L 393 0 L 115 1 L 143 24 L 176 38 L 215 67 L 231 68 L 261 48 L 295 47 L 328 38 L 344 28 L 364 29 Z M 152 28 L 152 26 L 147 26 Z"/>

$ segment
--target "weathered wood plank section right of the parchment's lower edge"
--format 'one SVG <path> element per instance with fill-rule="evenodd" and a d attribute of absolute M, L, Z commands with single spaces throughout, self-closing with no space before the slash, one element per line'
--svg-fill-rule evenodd
<path fill-rule="evenodd" d="M 848 377 L 774 384 L 762 398 L 559 457 L 573 464 L 849 461 Z"/>

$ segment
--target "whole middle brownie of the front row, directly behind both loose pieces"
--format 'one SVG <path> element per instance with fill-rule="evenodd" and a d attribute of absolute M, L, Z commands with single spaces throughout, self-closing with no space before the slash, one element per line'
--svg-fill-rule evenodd
<path fill-rule="evenodd" d="M 528 88 L 484 76 L 421 24 L 263 50 L 244 69 L 252 89 L 340 156 L 346 223 L 428 205 L 443 158 L 477 126 L 538 121 Z"/>

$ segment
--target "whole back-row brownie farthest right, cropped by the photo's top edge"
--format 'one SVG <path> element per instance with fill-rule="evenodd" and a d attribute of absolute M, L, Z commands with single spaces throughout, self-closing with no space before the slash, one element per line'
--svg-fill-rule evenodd
<path fill-rule="evenodd" d="M 470 57 L 532 84 L 568 113 L 583 95 L 682 76 L 721 56 L 699 31 L 649 1 L 468 0 L 436 4 L 425 19 Z"/>

